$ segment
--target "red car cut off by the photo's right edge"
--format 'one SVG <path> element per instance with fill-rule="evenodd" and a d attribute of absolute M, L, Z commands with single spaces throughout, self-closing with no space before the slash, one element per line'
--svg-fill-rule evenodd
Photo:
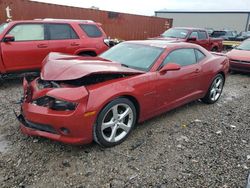
<path fill-rule="evenodd" d="M 250 39 L 227 53 L 230 60 L 230 70 L 250 72 Z"/>

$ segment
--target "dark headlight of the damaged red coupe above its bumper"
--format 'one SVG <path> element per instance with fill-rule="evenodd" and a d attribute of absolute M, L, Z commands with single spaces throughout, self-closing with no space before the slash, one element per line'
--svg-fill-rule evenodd
<path fill-rule="evenodd" d="M 72 111 L 75 110 L 77 106 L 77 103 L 67 102 L 48 96 L 38 98 L 32 101 L 32 104 L 37 106 L 47 107 L 49 109 L 57 111 L 67 111 L 67 110 Z"/>

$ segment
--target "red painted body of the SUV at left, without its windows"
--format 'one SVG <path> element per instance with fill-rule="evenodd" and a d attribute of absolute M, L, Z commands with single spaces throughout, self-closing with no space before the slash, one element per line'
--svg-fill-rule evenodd
<path fill-rule="evenodd" d="M 14 26 L 18 24 L 49 24 L 49 23 L 65 23 L 69 24 L 78 35 L 78 39 L 64 40 L 41 40 L 41 41 L 14 41 L 3 42 L 2 40 Z M 102 32 L 101 37 L 90 38 L 80 28 L 79 24 L 94 24 Z M 104 43 L 106 34 L 95 22 L 77 22 L 77 21 L 13 21 L 0 35 L 1 52 L 0 52 L 0 73 L 12 73 L 19 71 L 28 71 L 41 68 L 41 62 L 49 52 L 62 52 L 66 54 L 80 54 L 86 51 L 100 54 L 108 49 Z"/>

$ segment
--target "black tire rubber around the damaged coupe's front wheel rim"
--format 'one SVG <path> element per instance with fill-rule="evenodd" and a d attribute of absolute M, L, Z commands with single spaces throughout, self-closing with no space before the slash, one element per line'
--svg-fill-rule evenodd
<path fill-rule="evenodd" d="M 130 108 L 132 109 L 133 117 L 134 117 L 133 118 L 133 123 L 132 123 L 130 131 L 127 133 L 127 135 L 123 139 L 121 139 L 118 142 L 108 142 L 102 136 L 102 130 L 101 130 L 102 120 L 103 120 L 104 116 L 106 115 L 106 113 L 110 110 L 110 108 L 112 108 L 116 104 L 121 104 L 121 103 L 129 105 Z M 115 146 L 115 145 L 118 145 L 118 144 L 122 143 L 129 136 L 131 131 L 133 130 L 135 122 L 136 122 L 136 117 L 137 117 L 137 114 L 136 114 L 135 106 L 129 99 L 127 99 L 127 98 L 117 98 L 117 99 L 111 101 L 110 103 L 108 103 L 101 110 L 101 112 L 99 113 L 99 115 L 97 117 L 97 120 L 96 120 L 96 123 L 95 123 L 95 128 L 94 128 L 95 141 L 98 144 L 100 144 L 101 146 L 104 146 L 104 147 L 112 147 L 112 146 Z"/>

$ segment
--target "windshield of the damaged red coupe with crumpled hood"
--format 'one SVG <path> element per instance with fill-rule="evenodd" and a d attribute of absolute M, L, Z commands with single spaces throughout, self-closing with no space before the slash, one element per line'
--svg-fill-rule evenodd
<path fill-rule="evenodd" d="M 163 52 L 163 48 L 141 44 L 121 43 L 100 55 L 125 67 L 148 71 Z"/>

